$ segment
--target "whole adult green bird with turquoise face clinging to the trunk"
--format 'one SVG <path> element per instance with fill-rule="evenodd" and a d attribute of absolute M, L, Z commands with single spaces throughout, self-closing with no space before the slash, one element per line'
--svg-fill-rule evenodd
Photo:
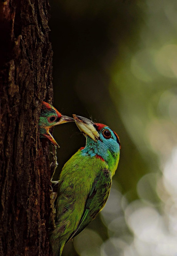
<path fill-rule="evenodd" d="M 119 138 L 113 130 L 73 116 L 86 137 L 86 146 L 69 159 L 59 177 L 56 228 L 50 236 L 54 256 L 61 256 L 64 245 L 103 209 L 120 154 Z"/>

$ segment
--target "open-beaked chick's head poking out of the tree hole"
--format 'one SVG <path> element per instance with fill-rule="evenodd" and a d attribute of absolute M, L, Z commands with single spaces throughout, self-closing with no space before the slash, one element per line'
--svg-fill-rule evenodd
<path fill-rule="evenodd" d="M 49 129 L 55 125 L 73 122 L 74 119 L 64 116 L 47 102 L 42 102 L 42 109 L 39 118 L 40 137 L 48 138 L 55 146 L 59 147 L 53 136 L 49 133 Z"/>

